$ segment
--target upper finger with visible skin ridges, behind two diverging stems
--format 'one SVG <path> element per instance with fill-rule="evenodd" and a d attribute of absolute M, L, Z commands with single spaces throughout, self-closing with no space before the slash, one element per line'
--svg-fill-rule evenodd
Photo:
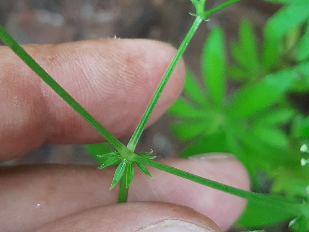
<path fill-rule="evenodd" d="M 176 50 L 151 40 L 107 39 L 25 45 L 35 60 L 117 137 L 131 134 Z M 0 47 L 0 161 L 43 142 L 103 141 L 87 122 L 7 47 Z M 176 67 L 150 117 L 159 118 L 184 84 Z"/>

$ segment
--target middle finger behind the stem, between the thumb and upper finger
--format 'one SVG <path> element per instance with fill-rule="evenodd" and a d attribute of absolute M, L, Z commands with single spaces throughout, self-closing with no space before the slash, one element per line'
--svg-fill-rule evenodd
<path fill-rule="evenodd" d="M 230 157 L 163 162 L 234 187 L 249 188 L 245 169 Z M 0 227 L 8 231 L 21 231 L 19 228 L 32 231 L 65 215 L 114 204 L 117 201 L 117 187 L 108 190 L 114 170 L 67 165 L 4 167 L 0 170 Z M 233 224 L 246 204 L 239 197 L 160 170 L 149 170 L 153 178 L 135 169 L 129 201 L 155 200 L 183 204 L 209 216 L 222 230 Z M 16 217 L 17 214 L 22 216 Z"/>

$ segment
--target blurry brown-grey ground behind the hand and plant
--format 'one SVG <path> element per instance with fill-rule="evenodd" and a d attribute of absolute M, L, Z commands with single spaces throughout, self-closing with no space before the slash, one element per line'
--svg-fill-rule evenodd
<path fill-rule="evenodd" d="M 222 0 L 208 0 L 207 8 Z M 203 23 L 184 54 L 200 75 L 200 51 L 212 26 L 221 25 L 227 38 L 236 38 L 239 20 L 250 19 L 260 35 L 265 21 L 279 6 L 261 0 L 242 0 L 212 15 Z M 63 43 L 104 37 L 149 38 L 178 46 L 188 31 L 194 12 L 189 0 L 0 0 L 0 24 L 20 44 Z M 228 42 L 228 40 L 227 40 Z M 184 147 L 169 132 L 172 118 L 164 115 L 144 131 L 137 150 L 175 157 Z M 127 142 L 128 138 L 123 138 Z M 10 164 L 95 164 L 82 146 L 44 144 Z"/>

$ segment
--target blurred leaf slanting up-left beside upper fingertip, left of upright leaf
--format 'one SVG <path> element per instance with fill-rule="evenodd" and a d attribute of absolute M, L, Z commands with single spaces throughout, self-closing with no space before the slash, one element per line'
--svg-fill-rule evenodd
<path fill-rule="evenodd" d="M 201 88 L 199 87 L 199 84 L 197 84 L 195 76 L 189 68 L 187 68 L 186 70 L 184 93 L 188 95 L 188 97 L 190 97 L 197 104 L 204 106 L 208 105 L 204 93 L 201 91 Z"/>

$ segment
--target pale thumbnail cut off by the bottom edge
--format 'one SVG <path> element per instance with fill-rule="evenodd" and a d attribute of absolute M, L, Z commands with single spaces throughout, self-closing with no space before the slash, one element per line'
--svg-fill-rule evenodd
<path fill-rule="evenodd" d="M 157 224 L 147 226 L 138 232 L 212 232 L 209 228 L 203 228 L 195 224 L 180 221 L 175 219 L 168 219 Z"/>

